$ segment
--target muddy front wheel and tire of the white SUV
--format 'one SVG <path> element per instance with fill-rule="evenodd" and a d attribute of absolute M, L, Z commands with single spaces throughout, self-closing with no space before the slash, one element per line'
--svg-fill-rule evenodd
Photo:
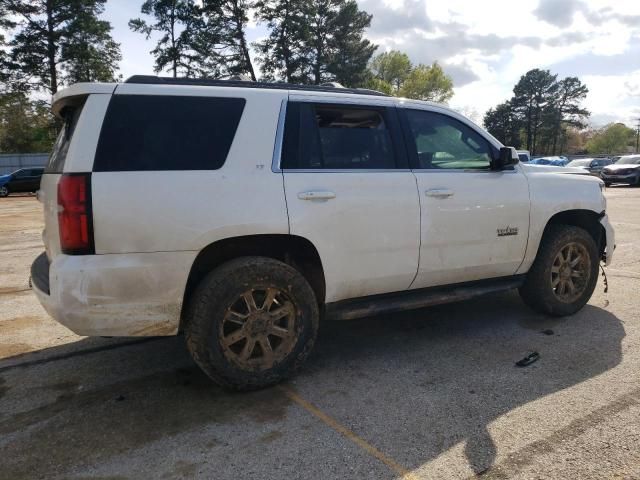
<path fill-rule="evenodd" d="M 537 312 L 572 315 L 589 301 L 598 282 L 598 248 L 589 233 L 552 225 L 520 287 L 524 302 Z"/>

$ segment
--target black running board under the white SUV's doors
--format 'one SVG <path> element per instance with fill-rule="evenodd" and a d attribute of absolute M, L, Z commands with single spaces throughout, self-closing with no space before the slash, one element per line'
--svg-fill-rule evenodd
<path fill-rule="evenodd" d="M 518 275 L 341 300 L 326 305 L 325 317 L 328 320 L 353 320 L 384 313 L 458 302 L 488 293 L 518 288 L 522 286 L 524 279 L 524 275 Z"/>

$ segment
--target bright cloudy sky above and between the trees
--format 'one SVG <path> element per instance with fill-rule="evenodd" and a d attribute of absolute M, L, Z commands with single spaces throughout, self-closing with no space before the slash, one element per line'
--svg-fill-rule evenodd
<path fill-rule="evenodd" d="M 153 74 L 154 42 L 129 30 L 142 0 L 109 0 L 103 17 L 120 42 L 124 78 Z M 591 124 L 640 118 L 640 0 L 358 0 L 373 15 L 377 52 L 438 61 L 454 82 L 449 105 L 481 122 L 532 68 L 577 76 L 589 88 Z M 247 36 L 266 35 L 250 22 Z"/>

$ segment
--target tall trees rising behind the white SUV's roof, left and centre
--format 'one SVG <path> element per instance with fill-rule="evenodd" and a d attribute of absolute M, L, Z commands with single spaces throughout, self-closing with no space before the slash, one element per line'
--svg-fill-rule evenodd
<path fill-rule="evenodd" d="M 76 82 L 121 80 L 120 44 L 101 19 L 106 0 L 0 0 L 0 152 L 47 151 L 57 125 L 42 93 Z M 447 101 L 440 65 L 374 56 L 372 16 L 356 0 L 145 0 L 129 28 L 154 44 L 155 73 L 297 84 L 338 82 Z M 247 39 L 250 18 L 267 28 Z M 2 32 L 9 32 L 2 35 Z M 35 95 L 34 95 L 35 94 Z"/>

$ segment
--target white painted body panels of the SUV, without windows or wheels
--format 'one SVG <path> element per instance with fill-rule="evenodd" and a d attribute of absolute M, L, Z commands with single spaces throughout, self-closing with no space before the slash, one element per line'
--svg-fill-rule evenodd
<path fill-rule="evenodd" d="M 242 97 L 246 107 L 218 170 L 92 172 L 102 120 L 117 95 Z M 611 261 L 614 233 L 602 182 L 558 174 L 567 168 L 280 169 L 284 112 L 293 100 L 439 112 L 502 147 L 441 105 L 346 93 L 125 83 L 74 85 L 56 94 L 53 109 L 78 98 L 86 101 L 63 173 L 92 172 L 95 254 L 61 252 L 55 199 L 61 174 L 45 174 L 39 199 L 50 292 L 37 285 L 34 290 L 52 317 L 81 335 L 176 334 L 198 255 L 237 237 L 292 235 L 310 242 L 322 262 L 327 304 L 524 274 L 550 219 L 567 211 L 600 216 L 603 258 Z M 517 235 L 499 237 L 497 229 Z"/>

